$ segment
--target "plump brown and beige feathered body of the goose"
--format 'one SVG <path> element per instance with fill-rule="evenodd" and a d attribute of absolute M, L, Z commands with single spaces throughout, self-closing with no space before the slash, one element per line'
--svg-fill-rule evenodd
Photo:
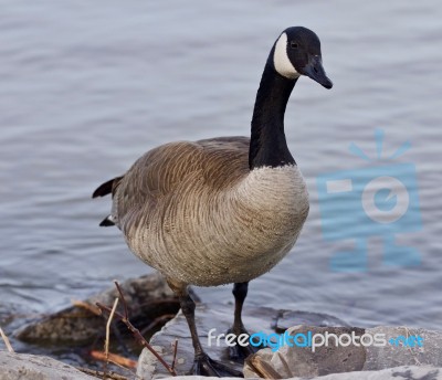
<path fill-rule="evenodd" d="M 249 168 L 250 139 L 157 147 L 115 180 L 112 220 L 130 250 L 173 282 L 241 283 L 292 249 L 308 214 L 296 165 Z"/>

